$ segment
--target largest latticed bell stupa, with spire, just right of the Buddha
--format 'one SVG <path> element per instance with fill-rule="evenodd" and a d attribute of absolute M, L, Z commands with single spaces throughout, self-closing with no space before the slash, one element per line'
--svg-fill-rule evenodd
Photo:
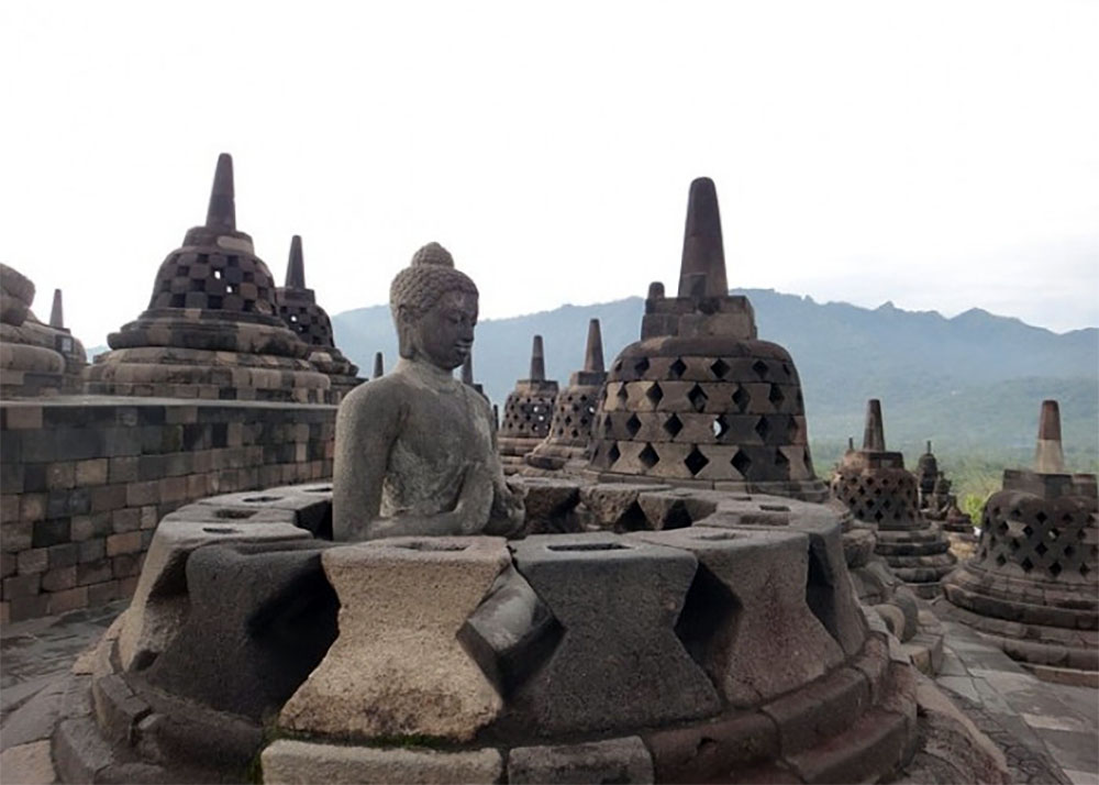
<path fill-rule="evenodd" d="M 641 341 L 611 365 L 592 429 L 601 477 L 828 497 L 793 361 L 731 296 L 713 181 L 691 183 L 677 297 L 653 284 Z"/>

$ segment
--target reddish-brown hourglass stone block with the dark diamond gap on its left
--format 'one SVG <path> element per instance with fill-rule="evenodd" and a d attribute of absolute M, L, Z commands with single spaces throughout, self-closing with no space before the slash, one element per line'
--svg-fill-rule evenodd
<path fill-rule="evenodd" d="M 691 527 L 630 538 L 698 559 L 676 632 L 733 706 L 758 705 L 843 661 L 840 645 L 806 602 L 806 534 Z"/>

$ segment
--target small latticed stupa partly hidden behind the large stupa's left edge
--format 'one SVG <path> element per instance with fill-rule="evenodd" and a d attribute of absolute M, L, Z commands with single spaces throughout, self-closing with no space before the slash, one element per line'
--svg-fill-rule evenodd
<path fill-rule="evenodd" d="M 568 387 L 557 394 L 550 433 L 526 455 L 528 464 L 542 469 L 558 469 L 569 462 L 586 463 L 591 423 L 606 382 L 603 338 L 599 320 L 592 319 L 588 322 L 584 369 L 575 372 L 568 379 Z"/>

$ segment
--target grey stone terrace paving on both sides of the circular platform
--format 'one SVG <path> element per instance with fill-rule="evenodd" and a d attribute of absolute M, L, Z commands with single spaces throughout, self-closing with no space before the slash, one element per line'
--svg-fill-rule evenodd
<path fill-rule="evenodd" d="M 52 686 L 125 605 L 0 628 L 0 782 L 4 785 L 55 782 L 47 739 L 60 696 Z M 1099 785 L 1099 690 L 1040 682 L 966 628 L 944 626 L 939 685 L 977 704 L 1018 742 L 1048 753 L 1075 785 Z M 1032 782 L 1025 771 L 1013 774 L 1020 783 Z"/>

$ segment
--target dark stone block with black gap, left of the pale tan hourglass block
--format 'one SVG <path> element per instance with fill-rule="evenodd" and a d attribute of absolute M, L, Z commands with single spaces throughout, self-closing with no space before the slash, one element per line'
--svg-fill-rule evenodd
<path fill-rule="evenodd" d="M 330 545 L 200 548 L 187 562 L 187 622 L 148 681 L 255 720 L 280 708 L 336 637 L 338 602 L 321 570 Z"/>

